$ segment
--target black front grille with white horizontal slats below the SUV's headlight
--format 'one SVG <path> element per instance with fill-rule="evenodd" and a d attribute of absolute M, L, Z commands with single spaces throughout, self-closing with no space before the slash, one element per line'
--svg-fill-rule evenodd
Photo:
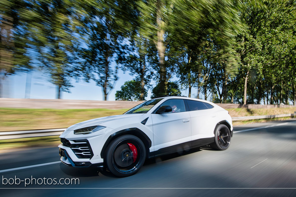
<path fill-rule="evenodd" d="M 74 154 L 79 159 L 91 159 L 94 156 L 94 153 L 91 150 L 91 146 L 87 139 L 80 139 L 80 140 L 72 140 L 73 143 L 71 144 L 69 140 L 65 138 L 61 138 L 61 142 L 63 146 L 70 147 Z"/>

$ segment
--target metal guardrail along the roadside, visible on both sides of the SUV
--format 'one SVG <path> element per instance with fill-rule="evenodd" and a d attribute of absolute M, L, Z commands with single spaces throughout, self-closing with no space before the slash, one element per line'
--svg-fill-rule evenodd
<path fill-rule="evenodd" d="M 232 121 L 281 118 L 281 117 L 293 117 L 293 116 L 296 116 L 296 113 L 233 117 Z M 29 138 L 29 137 L 59 136 L 66 129 L 67 128 L 38 129 L 38 130 L 27 130 L 27 131 L 2 131 L 0 132 L 0 140 L 1 139 L 20 139 L 20 138 Z"/>

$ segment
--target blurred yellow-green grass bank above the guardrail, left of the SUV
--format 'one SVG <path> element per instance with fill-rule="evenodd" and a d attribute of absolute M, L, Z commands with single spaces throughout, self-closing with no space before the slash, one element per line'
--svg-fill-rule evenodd
<path fill-rule="evenodd" d="M 75 123 L 109 115 L 126 109 L 15 109 L 0 108 L 0 131 L 67 128 Z"/>

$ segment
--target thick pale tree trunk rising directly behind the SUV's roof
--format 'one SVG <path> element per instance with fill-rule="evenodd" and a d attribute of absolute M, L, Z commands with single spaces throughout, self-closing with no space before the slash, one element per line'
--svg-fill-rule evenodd
<path fill-rule="evenodd" d="M 159 90 L 160 95 L 167 95 L 168 94 L 168 82 L 166 79 L 166 68 L 165 68 L 165 46 L 163 43 L 163 35 L 164 30 L 162 29 L 163 20 L 161 14 L 161 7 L 162 1 L 157 0 L 156 2 L 156 24 L 157 24 L 157 41 L 156 41 L 156 48 L 159 56 L 159 66 L 160 66 L 160 83 L 159 83 Z"/>

